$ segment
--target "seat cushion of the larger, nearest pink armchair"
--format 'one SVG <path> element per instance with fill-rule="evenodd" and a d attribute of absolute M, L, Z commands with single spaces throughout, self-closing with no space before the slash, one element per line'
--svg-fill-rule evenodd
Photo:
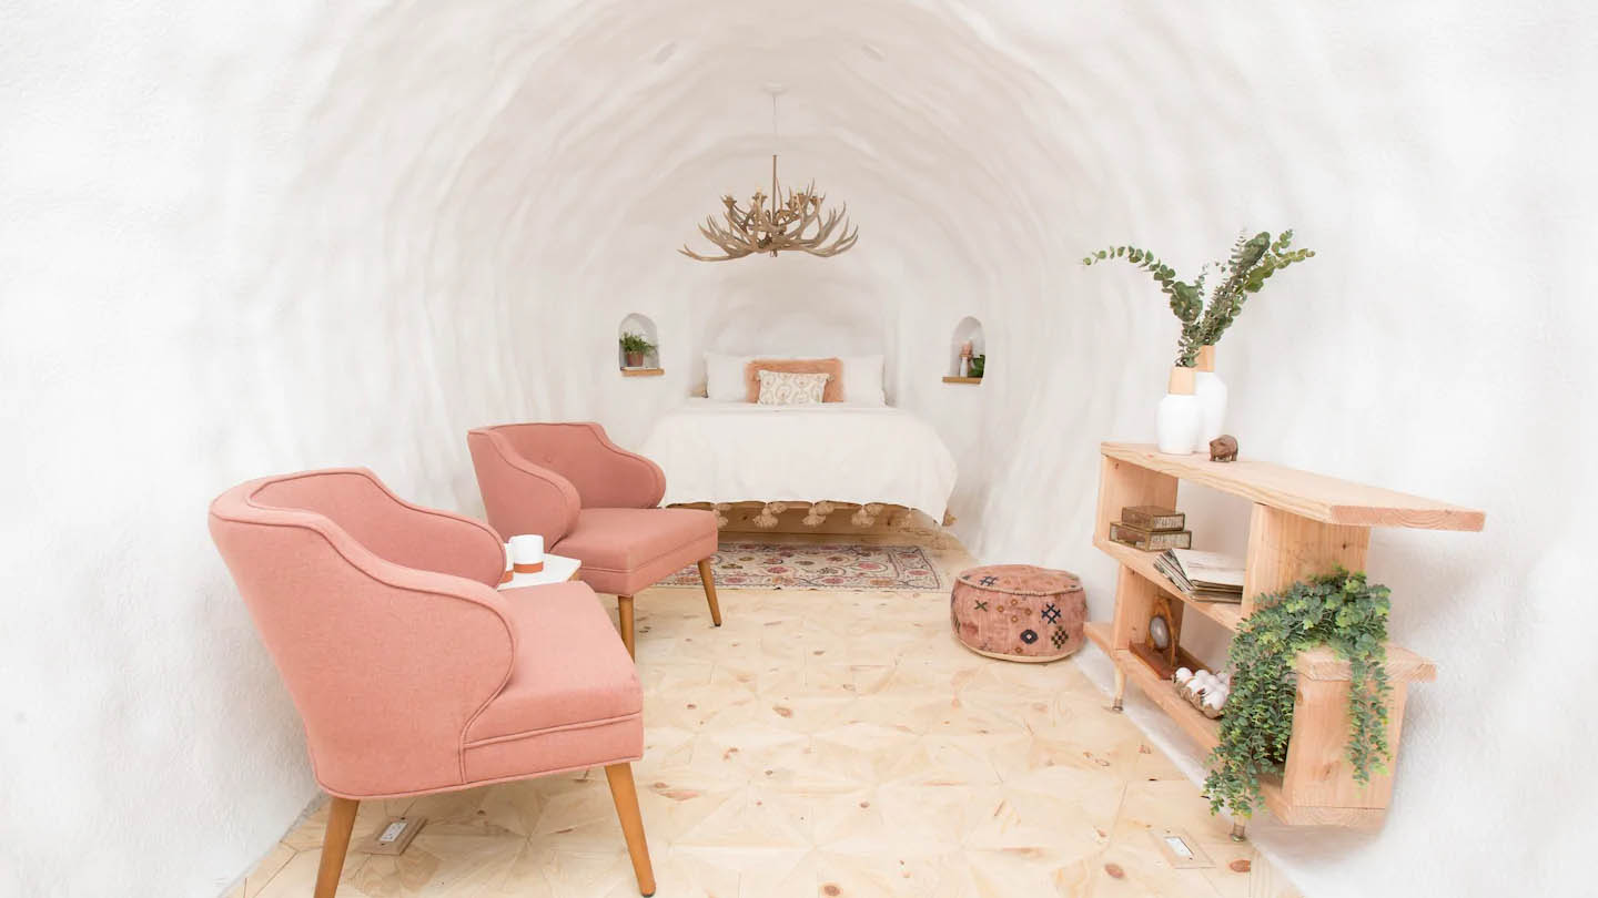
<path fill-rule="evenodd" d="M 467 746 L 556 730 L 570 730 L 570 738 L 593 729 L 591 735 L 615 741 L 620 733 L 628 743 L 593 751 L 594 757 L 639 754 L 638 670 L 593 590 L 555 583 L 500 594 L 510 606 L 516 658 L 505 687 L 467 727 Z M 612 732 L 618 722 L 626 725 Z"/>

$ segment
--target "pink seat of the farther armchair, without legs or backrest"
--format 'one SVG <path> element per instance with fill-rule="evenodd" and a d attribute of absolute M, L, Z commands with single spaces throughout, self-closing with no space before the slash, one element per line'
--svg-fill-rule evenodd
<path fill-rule="evenodd" d="M 631 596 L 716 554 L 716 515 L 700 508 L 583 508 L 550 551 L 583 562 L 599 593 Z"/>

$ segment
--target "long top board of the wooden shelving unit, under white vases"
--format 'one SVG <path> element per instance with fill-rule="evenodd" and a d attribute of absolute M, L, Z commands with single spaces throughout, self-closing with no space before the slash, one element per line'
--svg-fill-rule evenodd
<path fill-rule="evenodd" d="M 1328 524 L 1480 530 L 1486 523 L 1486 513 L 1475 508 L 1283 468 L 1270 462 L 1250 459 L 1211 462 L 1203 454 L 1163 454 L 1146 443 L 1103 443 L 1099 449 L 1109 459 L 1130 462 Z"/>

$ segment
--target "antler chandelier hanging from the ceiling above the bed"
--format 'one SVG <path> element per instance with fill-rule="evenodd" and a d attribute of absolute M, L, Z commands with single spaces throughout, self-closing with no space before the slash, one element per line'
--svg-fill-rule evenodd
<path fill-rule="evenodd" d="M 772 131 L 777 131 L 777 94 L 780 85 L 767 85 L 772 94 Z M 826 195 L 815 192 L 815 182 L 804 190 L 788 190 L 783 195 L 777 182 L 777 153 L 772 153 L 772 195 L 756 190 L 749 208 L 738 205 L 732 195 L 721 198 L 727 206 L 722 219 L 708 216 L 700 233 L 722 251 L 722 256 L 702 256 L 682 244 L 678 252 L 700 262 L 725 262 L 756 252 L 777 256 L 783 251 L 809 252 L 810 256 L 837 256 L 855 244 L 860 228 L 849 225 L 849 203 L 823 216 Z"/>

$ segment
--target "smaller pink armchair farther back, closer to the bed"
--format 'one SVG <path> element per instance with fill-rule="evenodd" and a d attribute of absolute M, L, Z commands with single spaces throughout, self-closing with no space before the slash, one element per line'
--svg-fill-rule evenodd
<path fill-rule="evenodd" d="M 698 562 L 710 617 L 721 626 L 716 515 L 657 508 L 660 468 L 620 449 L 598 423 L 507 423 L 467 433 L 489 523 L 505 537 L 540 534 L 556 554 L 580 559 L 580 577 L 617 596 L 622 641 L 633 644 L 633 596 Z"/>

